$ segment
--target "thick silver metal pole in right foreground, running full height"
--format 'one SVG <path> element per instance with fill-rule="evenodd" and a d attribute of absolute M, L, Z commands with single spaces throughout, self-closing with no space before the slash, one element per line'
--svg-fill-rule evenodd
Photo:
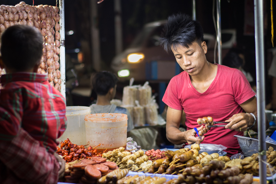
<path fill-rule="evenodd" d="M 255 53 L 257 76 L 257 113 L 258 113 L 258 139 L 259 139 L 259 176 L 260 183 L 266 184 L 266 144 L 265 144 L 265 88 L 264 88 L 264 23 L 263 1 L 254 0 L 255 20 Z"/>

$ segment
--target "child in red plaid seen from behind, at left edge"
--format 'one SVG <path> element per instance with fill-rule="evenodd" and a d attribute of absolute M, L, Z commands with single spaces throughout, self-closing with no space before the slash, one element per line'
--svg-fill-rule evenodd
<path fill-rule="evenodd" d="M 37 73 L 42 44 L 41 33 L 31 26 L 9 27 L 1 37 L 0 67 L 7 72 L 1 77 L 0 92 L 3 183 L 58 181 L 56 139 L 66 129 L 66 106 L 47 75 Z"/>

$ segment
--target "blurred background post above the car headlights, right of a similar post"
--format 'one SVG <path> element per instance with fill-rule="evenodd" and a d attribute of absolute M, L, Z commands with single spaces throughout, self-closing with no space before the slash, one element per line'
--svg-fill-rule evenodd
<path fill-rule="evenodd" d="M 116 54 L 120 54 L 123 51 L 121 0 L 114 1 L 114 13 L 115 13 L 115 50 L 116 50 Z"/>

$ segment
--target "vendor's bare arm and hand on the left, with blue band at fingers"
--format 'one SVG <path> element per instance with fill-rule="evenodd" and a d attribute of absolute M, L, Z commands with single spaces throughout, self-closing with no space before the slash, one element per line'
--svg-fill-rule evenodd
<path fill-rule="evenodd" d="M 180 145 L 185 142 L 188 144 L 197 143 L 203 141 L 204 136 L 200 140 L 198 137 L 195 137 L 196 131 L 191 129 L 184 132 L 179 130 L 179 125 L 182 117 L 182 110 L 175 110 L 171 107 L 168 107 L 167 110 L 167 124 L 166 124 L 166 136 L 167 139 L 172 142 L 173 144 Z M 201 130 L 203 126 L 198 128 Z"/>

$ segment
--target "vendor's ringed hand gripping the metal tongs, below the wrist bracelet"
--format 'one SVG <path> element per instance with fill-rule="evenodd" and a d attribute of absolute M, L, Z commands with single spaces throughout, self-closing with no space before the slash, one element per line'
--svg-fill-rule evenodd
<path fill-rule="evenodd" d="M 238 113 L 234 114 L 231 118 L 226 120 L 225 122 L 229 122 L 225 129 L 235 130 L 235 131 L 246 131 L 247 127 L 253 125 L 254 118 L 252 115 L 247 113 Z"/>

